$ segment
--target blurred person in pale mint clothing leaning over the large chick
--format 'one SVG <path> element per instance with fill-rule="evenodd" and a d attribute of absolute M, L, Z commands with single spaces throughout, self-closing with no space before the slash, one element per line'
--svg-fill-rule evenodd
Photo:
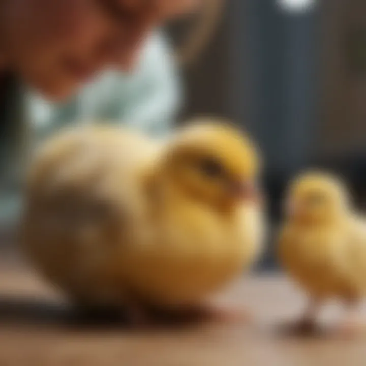
<path fill-rule="evenodd" d="M 193 11 L 196 3 L 199 0 L 1 2 L 2 226 L 18 215 L 30 133 L 38 139 L 87 118 L 125 119 L 155 133 L 166 128 L 179 91 L 168 45 L 154 31 Z M 81 89 L 85 84 L 88 87 Z"/>

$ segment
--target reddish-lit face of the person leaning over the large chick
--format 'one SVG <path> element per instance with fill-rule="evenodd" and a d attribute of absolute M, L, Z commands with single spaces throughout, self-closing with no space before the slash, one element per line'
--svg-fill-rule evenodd
<path fill-rule="evenodd" d="M 5 51 L 20 77 L 63 99 L 106 68 L 134 66 L 147 34 L 200 0 L 10 0 Z"/>

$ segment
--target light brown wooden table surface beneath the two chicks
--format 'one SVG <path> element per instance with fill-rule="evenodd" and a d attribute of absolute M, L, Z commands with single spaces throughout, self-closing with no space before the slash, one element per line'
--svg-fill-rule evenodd
<path fill-rule="evenodd" d="M 366 364 L 366 338 L 283 332 L 304 298 L 280 276 L 241 279 L 220 298 L 242 317 L 173 329 L 85 328 L 69 324 L 68 307 L 23 267 L 0 269 L 0 365 L 32 366 L 343 366 Z M 339 316 L 329 307 L 322 321 Z"/>

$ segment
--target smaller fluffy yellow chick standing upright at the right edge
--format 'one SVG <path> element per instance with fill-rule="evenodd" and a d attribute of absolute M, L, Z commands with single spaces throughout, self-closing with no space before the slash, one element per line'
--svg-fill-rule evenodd
<path fill-rule="evenodd" d="M 290 186 L 285 211 L 279 257 L 310 296 L 300 329 L 313 329 L 322 304 L 339 298 L 352 307 L 341 329 L 352 330 L 354 306 L 366 292 L 366 226 L 346 187 L 330 174 L 305 173 Z"/>

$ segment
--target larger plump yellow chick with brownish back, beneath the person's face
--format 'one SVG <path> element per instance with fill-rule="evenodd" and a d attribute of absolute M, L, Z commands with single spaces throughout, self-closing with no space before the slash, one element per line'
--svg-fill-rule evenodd
<path fill-rule="evenodd" d="M 259 173 L 250 138 L 220 120 L 162 142 L 74 129 L 48 141 L 29 172 L 24 248 L 78 304 L 195 306 L 261 252 Z"/>

